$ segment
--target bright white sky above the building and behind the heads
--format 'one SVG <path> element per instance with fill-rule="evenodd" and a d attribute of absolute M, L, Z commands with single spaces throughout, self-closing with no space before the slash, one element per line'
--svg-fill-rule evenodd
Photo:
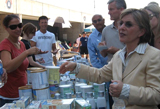
<path fill-rule="evenodd" d="M 58 7 L 73 9 L 76 11 L 101 14 L 106 19 L 106 24 L 110 24 L 110 17 L 108 15 L 108 0 L 33 0 L 43 3 L 52 4 Z M 159 3 L 160 0 L 125 0 L 127 8 L 144 8 L 149 2 L 155 1 Z"/>

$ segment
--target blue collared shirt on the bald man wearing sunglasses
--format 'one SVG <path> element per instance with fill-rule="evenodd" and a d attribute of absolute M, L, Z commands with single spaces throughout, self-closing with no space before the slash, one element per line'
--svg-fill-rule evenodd
<path fill-rule="evenodd" d="M 101 68 L 107 64 L 107 57 L 100 54 L 97 46 L 101 42 L 102 34 L 95 29 L 88 38 L 87 48 L 90 56 L 90 61 L 93 67 Z"/>

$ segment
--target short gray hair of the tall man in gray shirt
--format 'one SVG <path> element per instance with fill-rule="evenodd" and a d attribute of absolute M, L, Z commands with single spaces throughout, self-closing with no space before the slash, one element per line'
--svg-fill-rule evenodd
<path fill-rule="evenodd" d="M 126 9 L 127 8 L 125 0 L 109 0 L 107 4 L 110 4 L 112 2 L 116 2 L 116 7 L 118 9 L 120 9 L 120 8 Z"/>

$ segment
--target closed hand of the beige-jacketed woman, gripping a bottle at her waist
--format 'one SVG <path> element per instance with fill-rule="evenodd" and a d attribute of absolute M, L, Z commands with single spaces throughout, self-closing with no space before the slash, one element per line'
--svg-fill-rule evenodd
<path fill-rule="evenodd" d="M 121 81 L 112 80 L 109 87 L 109 93 L 112 97 L 119 97 L 123 88 L 123 83 Z M 116 84 L 115 84 L 116 82 Z"/>

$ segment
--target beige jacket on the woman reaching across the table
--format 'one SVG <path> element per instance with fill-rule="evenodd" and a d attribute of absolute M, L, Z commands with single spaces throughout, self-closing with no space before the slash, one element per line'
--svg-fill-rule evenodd
<path fill-rule="evenodd" d="M 160 104 L 160 50 L 148 45 L 144 55 L 133 53 L 123 74 L 118 53 L 101 69 L 81 65 L 77 77 L 96 83 L 120 80 L 130 85 L 126 109 L 157 109 Z"/>

